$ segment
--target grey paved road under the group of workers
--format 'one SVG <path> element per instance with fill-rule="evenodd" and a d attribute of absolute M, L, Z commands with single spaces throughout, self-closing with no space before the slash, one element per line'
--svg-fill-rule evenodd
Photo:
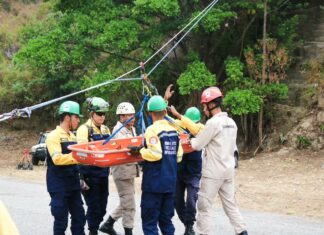
<path fill-rule="evenodd" d="M 18 179 L 0 177 L 0 200 L 7 206 L 21 235 L 52 234 L 52 216 L 49 210 L 49 195 L 44 183 L 23 182 Z M 141 235 L 139 214 L 140 197 L 137 196 L 135 235 Z M 118 196 L 109 196 L 108 211 L 118 204 Z M 252 235 L 324 235 L 324 221 L 309 220 L 292 216 L 242 211 Z M 231 235 L 234 231 L 222 209 L 214 210 L 215 235 Z M 177 216 L 174 217 L 176 235 L 183 234 L 184 228 Z M 121 222 L 116 228 L 122 231 Z M 70 234 L 70 231 L 67 232 Z"/>

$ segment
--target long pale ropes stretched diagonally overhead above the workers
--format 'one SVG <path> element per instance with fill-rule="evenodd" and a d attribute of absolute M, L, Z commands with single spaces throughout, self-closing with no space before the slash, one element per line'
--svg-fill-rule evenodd
<path fill-rule="evenodd" d="M 65 96 L 61 96 L 59 98 L 56 98 L 56 99 L 52 99 L 52 100 L 49 100 L 49 101 L 46 101 L 46 102 L 42 102 L 42 103 L 39 103 L 39 104 L 36 104 L 36 105 L 33 105 L 33 106 L 30 106 L 30 107 L 26 107 L 26 108 L 23 108 L 23 109 L 14 109 L 12 110 L 11 112 L 8 112 L 8 113 L 4 113 L 4 114 L 1 114 L 0 115 L 0 122 L 2 121 L 5 121 L 5 120 L 8 120 L 8 119 L 12 119 L 12 118 L 16 118 L 16 117 L 30 117 L 31 116 L 31 113 L 33 110 L 35 109 L 39 109 L 41 107 L 44 107 L 44 106 L 47 106 L 47 105 L 50 105 L 50 104 L 53 104 L 55 102 L 58 102 L 60 100 L 63 100 L 63 99 L 66 99 L 66 98 L 69 98 L 71 96 L 75 96 L 75 95 L 78 95 L 78 94 L 81 94 L 81 93 L 84 93 L 84 92 L 87 92 L 87 91 L 90 91 L 90 90 L 93 90 L 93 89 L 96 89 L 96 88 L 99 88 L 101 86 L 105 86 L 105 85 L 108 85 L 110 83 L 113 83 L 113 82 L 121 82 L 121 81 L 134 81 L 134 80 L 143 80 L 144 79 L 144 76 L 142 76 L 141 78 L 123 78 L 124 76 L 126 75 L 129 75 L 131 74 L 132 72 L 138 70 L 138 69 L 141 69 L 142 71 L 144 71 L 144 65 L 147 64 L 150 60 L 152 60 L 160 51 L 162 51 L 168 44 L 170 44 L 178 35 L 180 35 L 186 28 L 189 27 L 189 25 L 191 25 L 193 22 L 195 22 L 187 32 L 185 32 L 185 34 L 179 39 L 179 41 L 177 41 L 172 47 L 171 49 L 162 57 L 162 59 L 159 60 L 158 63 L 155 64 L 155 66 L 149 71 L 149 73 L 147 74 L 150 75 L 162 62 L 163 60 L 174 50 L 174 48 L 176 48 L 179 43 L 187 36 L 187 34 L 200 22 L 200 20 L 210 11 L 210 9 L 218 2 L 219 0 L 214 0 L 212 1 L 204 10 L 202 10 L 196 17 L 194 17 L 185 27 L 183 27 L 177 34 L 175 34 L 168 42 L 166 42 L 164 45 L 162 45 L 162 47 L 160 49 L 158 49 L 152 56 L 150 56 L 145 62 L 142 62 L 138 67 L 122 74 L 121 76 L 115 78 L 115 79 L 112 79 L 112 80 L 109 80 L 109 81 L 106 81 L 106 82 L 102 82 L 102 83 L 99 83 L 95 86 L 92 86 L 92 87 L 89 87 L 89 88 L 86 88 L 86 89 L 83 89 L 83 90 L 80 90 L 80 91 L 77 91 L 77 92 L 74 92 L 74 93 L 71 93 L 71 94 L 68 94 L 68 95 L 65 95 Z M 148 86 L 153 89 L 153 91 L 158 94 L 157 92 L 157 89 L 155 88 L 155 86 L 153 86 L 151 83 L 148 83 Z"/>

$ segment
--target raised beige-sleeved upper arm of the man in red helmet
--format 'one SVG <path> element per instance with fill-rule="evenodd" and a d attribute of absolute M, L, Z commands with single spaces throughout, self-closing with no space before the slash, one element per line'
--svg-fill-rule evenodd
<path fill-rule="evenodd" d="M 190 140 L 191 147 L 195 150 L 202 150 L 218 133 L 218 127 L 212 122 L 207 122 L 205 127 L 195 138 Z"/>

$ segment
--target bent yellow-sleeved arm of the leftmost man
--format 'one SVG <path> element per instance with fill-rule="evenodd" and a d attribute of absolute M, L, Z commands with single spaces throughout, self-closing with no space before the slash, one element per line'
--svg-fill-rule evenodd
<path fill-rule="evenodd" d="M 62 154 L 62 147 L 59 138 L 55 138 L 55 136 L 49 134 L 46 139 L 46 146 L 55 165 L 63 166 L 78 164 L 78 162 L 72 157 L 72 153 Z"/>

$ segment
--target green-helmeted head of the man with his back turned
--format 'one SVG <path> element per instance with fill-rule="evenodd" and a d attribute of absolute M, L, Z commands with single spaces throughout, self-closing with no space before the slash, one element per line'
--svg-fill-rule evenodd
<path fill-rule="evenodd" d="M 153 121 L 164 118 L 166 115 L 166 107 L 166 101 L 159 95 L 152 96 L 147 103 L 147 111 L 149 111 Z"/>

